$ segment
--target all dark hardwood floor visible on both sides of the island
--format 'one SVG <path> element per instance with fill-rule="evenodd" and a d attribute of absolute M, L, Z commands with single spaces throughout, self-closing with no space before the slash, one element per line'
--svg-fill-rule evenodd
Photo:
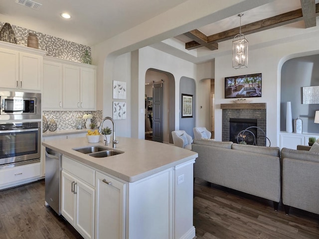
<path fill-rule="evenodd" d="M 197 239 L 319 239 L 319 215 L 196 179 Z M 0 191 L 0 239 L 82 239 L 44 206 L 44 180 Z M 107 237 L 106 237 L 107 239 Z"/>

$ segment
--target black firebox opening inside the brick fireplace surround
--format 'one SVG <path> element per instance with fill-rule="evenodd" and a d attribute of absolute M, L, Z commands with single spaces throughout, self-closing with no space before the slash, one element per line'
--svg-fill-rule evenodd
<path fill-rule="evenodd" d="M 229 119 L 229 141 L 234 143 L 246 143 L 253 145 L 257 135 L 257 119 Z M 249 128 L 250 131 L 242 132 L 244 129 Z M 240 133 L 242 132 L 242 133 Z M 240 134 L 239 134 L 240 133 Z"/>

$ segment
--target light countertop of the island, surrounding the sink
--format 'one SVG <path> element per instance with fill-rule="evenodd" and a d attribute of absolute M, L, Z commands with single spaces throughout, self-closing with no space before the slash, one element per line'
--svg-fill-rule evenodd
<path fill-rule="evenodd" d="M 127 137 L 117 137 L 117 140 L 119 144 L 116 150 L 124 153 L 104 158 L 95 158 L 72 149 L 93 145 L 104 146 L 102 139 L 99 143 L 88 143 L 86 137 L 58 139 L 44 141 L 42 145 L 127 182 L 135 182 L 198 156 L 196 152 L 150 140 Z M 107 147 L 112 148 L 112 143 Z"/>

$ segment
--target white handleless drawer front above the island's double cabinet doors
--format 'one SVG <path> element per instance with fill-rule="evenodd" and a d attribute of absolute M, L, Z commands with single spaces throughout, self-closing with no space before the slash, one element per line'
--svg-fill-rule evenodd
<path fill-rule="evenodd" d="M 62 155 L 62 169 L 95 187 L 95 170 Z"/>

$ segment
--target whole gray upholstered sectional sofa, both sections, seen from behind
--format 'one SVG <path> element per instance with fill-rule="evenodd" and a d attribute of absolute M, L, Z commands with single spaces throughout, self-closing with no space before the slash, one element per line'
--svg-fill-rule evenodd
<path fill-rule="evenodd" d="M 315 147 L 316 146 L 316 147 Z M 319 142 L 296 149 L 194 139 L 194 178 L 319 214 Z M 310 151 L 307 151 L 310 150 Z"/>

